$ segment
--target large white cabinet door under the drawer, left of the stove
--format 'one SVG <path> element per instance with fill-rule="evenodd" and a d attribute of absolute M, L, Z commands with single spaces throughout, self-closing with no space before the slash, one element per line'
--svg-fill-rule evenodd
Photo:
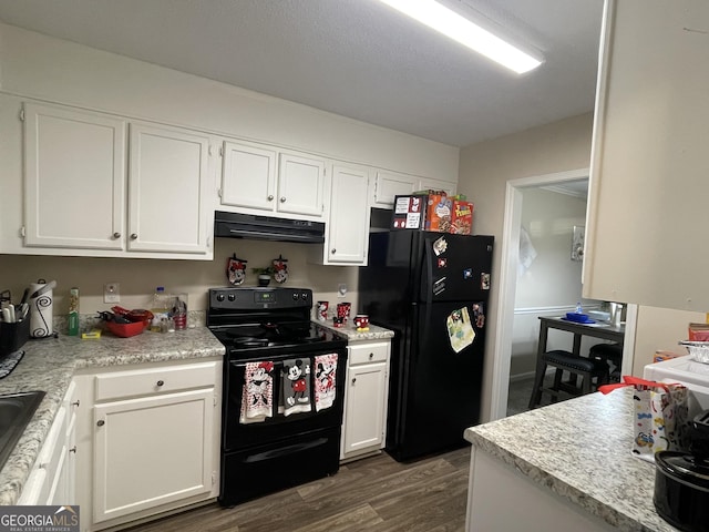
<path fill-rule="evenodd" d="M 94 408 L 94 522 L 212 490 L 214 390 Z"/>

